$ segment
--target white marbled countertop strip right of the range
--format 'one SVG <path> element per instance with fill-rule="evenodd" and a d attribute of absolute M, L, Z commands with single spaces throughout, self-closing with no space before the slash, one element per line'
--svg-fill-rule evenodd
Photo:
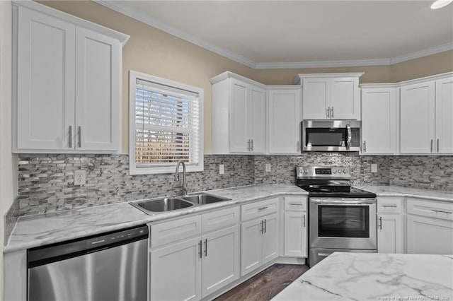
<path fill-rule="evenodd" d="M 358 185 L 354 186 L 377 194 L 377 196 L 412 196 L 414 198 L 432 199 L 437 201 L 453 201 L 452 191 L 440 191 L 430 189 L 418 189 L 401 186 L 373 186 Z"/>

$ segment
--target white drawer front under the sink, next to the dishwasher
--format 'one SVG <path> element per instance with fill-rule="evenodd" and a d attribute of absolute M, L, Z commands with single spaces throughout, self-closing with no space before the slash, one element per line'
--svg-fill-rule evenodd
<path fill-rule="evenodd" d="M 201 225 L 201 216 L 179 218 L 178 220 L 171 220 L 156 225 L 151 224 L 151 248 L 200 235 Z"/>

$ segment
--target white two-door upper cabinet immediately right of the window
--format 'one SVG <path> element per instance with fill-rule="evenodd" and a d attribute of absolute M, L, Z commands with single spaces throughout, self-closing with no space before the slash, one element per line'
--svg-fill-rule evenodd
<path fill-rule="evenodd" d="M 265 85 L 226 71 L 212 83 L 212 153 L 265 153 Z"/>

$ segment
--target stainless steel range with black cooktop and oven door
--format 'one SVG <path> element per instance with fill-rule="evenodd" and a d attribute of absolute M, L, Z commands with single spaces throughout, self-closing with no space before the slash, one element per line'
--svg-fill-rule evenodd
<path fill-rule="evenodd" d="M 309 192 L 309 266 L 333 252 L 377 252 L 376 194 L 350 179 L 349 167 L 297 167 Z"/>

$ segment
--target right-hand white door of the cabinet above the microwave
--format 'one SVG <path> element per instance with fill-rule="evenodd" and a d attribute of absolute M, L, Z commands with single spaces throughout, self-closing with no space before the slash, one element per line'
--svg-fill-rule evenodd
<path fill-rule="evenodd" d="M 332 78 L 331 119 L 360 118 L 360 90 L 358 78 Z"/>

